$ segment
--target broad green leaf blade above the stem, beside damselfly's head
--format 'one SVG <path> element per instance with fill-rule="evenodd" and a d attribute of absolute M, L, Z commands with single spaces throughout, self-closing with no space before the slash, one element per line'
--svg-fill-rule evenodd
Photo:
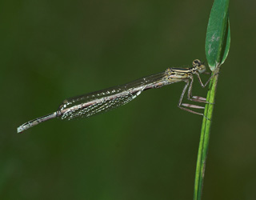
<path fill-rule="evenodd" d="M 225 62 L 230 49 L 229 0 L 215 0 L 206 32 L 206 59 L 210 70 Z"/>

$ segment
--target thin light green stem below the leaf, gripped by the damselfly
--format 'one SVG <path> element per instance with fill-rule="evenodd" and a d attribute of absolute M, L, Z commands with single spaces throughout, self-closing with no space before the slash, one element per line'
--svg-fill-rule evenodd
<path fill-rule="evenodd" d="M 206 118 L 203 118 L 202 120 L 202 130 L 198 147 L 198 161 L 194 180 L 194 200 L 200 200 L 202 198 L 202 185 L 206 168 L 206 158 L 210 139 L 210 126 L 212 123 L 215 102 L 214 99 L 218 83 L 218 72 L 219 67 L 216 68 L 214 78 L 212 78 L 210 81 L 210 86 L 206 98 L 210 104 L 206 104 L 204 111 Z"/>

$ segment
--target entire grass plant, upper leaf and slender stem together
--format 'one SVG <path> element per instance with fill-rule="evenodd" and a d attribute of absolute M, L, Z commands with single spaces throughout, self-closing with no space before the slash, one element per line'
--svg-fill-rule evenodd
<path fill-rule="evenodd" d="M 230 20 L 228 17 L 229 0 L 215 0 L 210 12 L 206 32 L 206 58 L 213 71 L 214 78 L 210 81 L 207 102 L 202 120 L 202 130 L 198 147 L 198 161 L 194 179 L 194 200 L 202 198 L 202 186 L 206 169 L 206 158 L 210 139 L 215 94 L 217 90 L 220 65 L 225 62 L 230 50 Z"/>

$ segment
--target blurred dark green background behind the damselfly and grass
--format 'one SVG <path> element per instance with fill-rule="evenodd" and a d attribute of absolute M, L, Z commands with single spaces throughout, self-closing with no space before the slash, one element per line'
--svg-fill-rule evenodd
<path fill-rule="evenodd" d="M 212 3 L 1 1 L 0 198 L 192 199 L 202 117 L 178 109 L 184 83 L 93 118 L 16 128 L 65 98 L 206 60 Z M 256 199 L 255 7 L 230 1 L 203 199 Z M 206 90 L 195 82 L 194 94 Z"/>

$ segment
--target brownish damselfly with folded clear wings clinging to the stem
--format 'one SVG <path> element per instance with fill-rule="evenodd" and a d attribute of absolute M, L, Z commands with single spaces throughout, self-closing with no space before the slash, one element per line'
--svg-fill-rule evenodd
<path fill-rule="evenodd" d="M 202 87 L 205 87 L 210 81 L 211 77 L 205 84 L 202 83 L 199 74 L 206 73 L 205 71 L 206 66 L 204 66 L 203 63 L 197 59 L 194 60 L 193 66 L 190 68 L 168 68 L 162 73 L 140 78 L 134 82 L 130 82 L 122 86 L 114 86 L 106 90 L 99 90 L 89 94 L 83 94 L 78 97 L 68 98 L 62 102 L 62 105 L 59 106 L 56 112 L 22 124 L 22 126 L 18 127 L 17 132 L 22 133 L 22 131 L 29 129 L 32 126 L 36 126 L 41 122 L 46 122 L 51 118 L 61 118 L 67 120 L 73 118 L 89 118 L 95 114 L 101 114 L 130 102 L 144 90 L 159 88 L 174 82 L 186 82 L 186 85 L 182 90 L 182 95 L 178 101 L 178 107 L 193 114 L 203 115 L 202 113 L 190 110 L 190 108 L 204 109 L 204 106 L 182 103 L 182 99 L 186 93 L 186 90 L 188 89 L 187 98 L 190 101 L 208 103 L 206 102 L 206 98 L 192 96 L 194 74 L 197 75 Z"/>

